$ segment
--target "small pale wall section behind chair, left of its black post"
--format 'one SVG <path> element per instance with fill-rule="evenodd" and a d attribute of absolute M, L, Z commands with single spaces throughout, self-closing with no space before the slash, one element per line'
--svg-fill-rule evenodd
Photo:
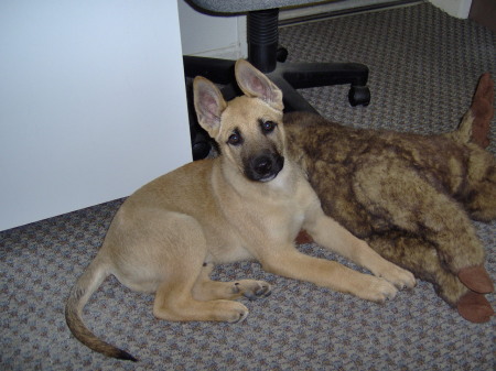
<path fill-rule="evenodd" d="M 247 57 L 246 17 L 207 15 L 177 0 L 185 55 L 226 59 Z"/>

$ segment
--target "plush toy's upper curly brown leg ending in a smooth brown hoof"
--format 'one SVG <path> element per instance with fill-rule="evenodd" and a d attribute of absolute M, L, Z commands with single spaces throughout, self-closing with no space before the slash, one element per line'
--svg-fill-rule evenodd
<path fill-rule="evenodd" d="M 438 259 L 439 266 L 459 276 L 471 291 L 478 294 L 493 292 L 493 282 L 483 266 L 484 248 L 465 210 L 401 159 L 390 156 L 363 162 L 355 173 L 354 189 L 368 212 L 380 215 L 392 223 L 395 228 L 390 229 L 403 230 L 435 248 L 422 250 L 418 242 L 410 242 L 408 249 L 399 249 L 402 250 L 400 260 L 422 261 L 428 259 L 422 255 L 428 254 Z M 459 296 L 459 303 L 463 295 L 444 280 L 434 284 L 446 299 Z M 449 303 L 453 304 L 453 301 Z"/>

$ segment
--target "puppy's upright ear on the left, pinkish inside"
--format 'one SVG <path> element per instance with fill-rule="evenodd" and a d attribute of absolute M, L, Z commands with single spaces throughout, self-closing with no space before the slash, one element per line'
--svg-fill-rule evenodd
<path fill-rule="evenodd" d="M 193 96 L 200 124 L 215 138 L 220 128 L 220 116 L 227 107 L 220 90 L 205 77 L 197 76 L 193 81 Z"/>

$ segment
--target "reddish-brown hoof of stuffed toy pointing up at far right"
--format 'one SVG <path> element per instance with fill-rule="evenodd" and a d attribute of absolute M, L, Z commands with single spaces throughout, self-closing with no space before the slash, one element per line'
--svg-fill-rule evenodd
<path fill-rule="evenodd" d="M 472 141 L 483 149 L 489 145 L 490 120 L 494 117 L 494 83 L 488 73 L 481 76 L 475 90 L 471 111 L 474 117 L 472 123 Z"/>

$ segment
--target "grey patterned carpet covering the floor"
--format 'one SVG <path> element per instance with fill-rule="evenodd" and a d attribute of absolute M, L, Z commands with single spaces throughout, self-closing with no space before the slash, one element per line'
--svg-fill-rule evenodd
<path fill-rule="evenodd" d="M 281 30 L 291 61 L 355 61 L 370 68 L 371 102 L 351 108 L 347 87 L 305 89 L 322 114 L 355 127 L 422 133 L 452 130 L 478 76 L 496 76 L 495 34 L 420 4 Z M 490 151 L 495 153 L 496 124 Z M 239 325 L 158 320 L 153 296 L 114 277 L 91 297 L 85 320 L 139 363 L 106 359 L 66 328 L 69 286 L 96 254 L 115 200 L 0 232 L 2 370 L 493 370 L 495 319 L 462 319 L 419 282 L 385 305 L 267 274 L 259 264 L 218 266 L 215 277 L 274 285 L 246 302 Z M 476 225 L 496 276 L 496 222 Z M 342 259 L 309 244 L 302 251 Z M 496 307 L 494 295 L 488 296 Z"/>

